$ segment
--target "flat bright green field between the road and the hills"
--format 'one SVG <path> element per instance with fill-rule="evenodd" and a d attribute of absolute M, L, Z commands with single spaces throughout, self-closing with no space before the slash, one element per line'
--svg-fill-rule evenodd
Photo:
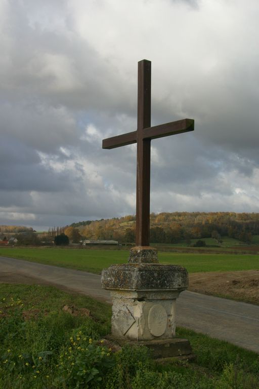
<path fill-rule="evenodd" d="M 91 250 L 65 248 L 0 248 L 0 256 L 62 266 L 100 274 L 103 268 L 127 262 L 124 250 Z M 177 264 L 190 273 L 198 271 L 235 271 L 259 268 L 259 256 L 251 254 L 158 253 L 160 263 Z"/>

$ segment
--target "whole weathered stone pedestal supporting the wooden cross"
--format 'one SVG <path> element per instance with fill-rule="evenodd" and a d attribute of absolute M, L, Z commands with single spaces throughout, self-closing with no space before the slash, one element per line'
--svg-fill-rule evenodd
<path fill-rule="evenodd" d="M 110 290 L 112 297 L 112 336 L 159 350 L 163 344 L 162 354 L 175 356 L 177 347 L 180 351 L 174 339 L 176 299 L 188 287 L 187 270 L 157 263 L 157 251 L 150 247 L 135 247 L 128 261 L 102 271 L 102 287 Z M 184 340 L 179 340 L 180 348 L 190 354 L 189 342 L 182 347 Z"/>

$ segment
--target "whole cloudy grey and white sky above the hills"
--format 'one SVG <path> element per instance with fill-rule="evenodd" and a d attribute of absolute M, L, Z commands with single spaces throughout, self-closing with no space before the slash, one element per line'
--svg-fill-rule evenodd
<path fill-rule="evenodd" d="M 137 63 L 152 61 L 151 211 L 259 212 L 257 0 L 1 0 L 0 224 L 135 213 Z"/>

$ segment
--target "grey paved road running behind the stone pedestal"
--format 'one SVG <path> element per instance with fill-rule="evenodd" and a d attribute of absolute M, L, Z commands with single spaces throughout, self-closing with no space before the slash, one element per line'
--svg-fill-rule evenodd
<path fill-rule="evenodd" d="M 5 257 L 0 257 L 0 270 L 111 302 L 95 274 Z M 177 301 L 177 324 L 259 353 L 257 305 L 184 291 Z"/>

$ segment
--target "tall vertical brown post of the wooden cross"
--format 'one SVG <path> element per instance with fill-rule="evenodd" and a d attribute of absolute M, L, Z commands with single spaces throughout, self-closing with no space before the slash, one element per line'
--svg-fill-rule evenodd
<path fill-rule="evenodd" d="M 151 126 L 151 62 L 138 63 L 136 246 L 149 246 L 150 148 L 143 130 Z"/>

